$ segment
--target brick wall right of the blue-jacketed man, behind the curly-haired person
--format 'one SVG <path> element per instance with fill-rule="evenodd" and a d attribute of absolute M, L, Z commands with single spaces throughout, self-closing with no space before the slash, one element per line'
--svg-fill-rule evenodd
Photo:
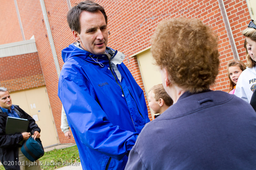
<path fill-rule="evenodd" d="M 219 36 L 220 74 L 216 79 L 216 84 L 212 86 L 212 89 L 228 91 L 229 80 L 227 77 L 227 63 L 230 60 L 234 60 L 234 56 L 217 0 L 147 0 L 118 2 L 119 3 L 109 3 L 109 1 L 99 2 L 105 6 L 109 16 L 109 46 L 121 49 L 129 57 L 150 46 L 150 37 L 153 35 L 157 24 L 161 20 L 173 17 L 198 18 L 205 24 L 211 26 Z M 113 8 L 113 4 L 115 4 L 115 8 Z M 224 4 L 240 60 L 244 61 L 244 38 L 241 32 L 247 27 L 250 20 L 246 1 L 224 0 Z M 124 63 L 131 69 L 137 61 L 136 59 L 129 61 L 129 63 Z M 131 72 L 133 76 L 137 77 L 137 69 L 131 69 Z M 137 78 L 140 83 L 141 76 L 139 75 Z M 142 85 L 142 82 L 140 85 Z"/>

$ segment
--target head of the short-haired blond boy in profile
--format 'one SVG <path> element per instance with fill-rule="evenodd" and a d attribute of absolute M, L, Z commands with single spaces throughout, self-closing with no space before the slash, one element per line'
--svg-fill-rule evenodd
<path fill-rule="evenodd" d="M 173 104 L 172 98 L 165 92 L 163 84 L 154 85 L 148 91 L 148 106 L 154 114 L 162 114 Z M 155 115 L 155 118 L 158 115 Z"/>

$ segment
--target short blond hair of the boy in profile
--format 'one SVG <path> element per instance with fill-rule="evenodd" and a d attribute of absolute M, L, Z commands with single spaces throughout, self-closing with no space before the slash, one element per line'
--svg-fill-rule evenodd
<path fill-rule="evenodd" d="M 156 101 L 162 98 L 167 106 L 171 106 L 173 104 L 172 98 L 167 94 L 167 92 L 165 92 L 163 84 L 154 85 L 148 92 L 151 91 L 154 93 Z"/>

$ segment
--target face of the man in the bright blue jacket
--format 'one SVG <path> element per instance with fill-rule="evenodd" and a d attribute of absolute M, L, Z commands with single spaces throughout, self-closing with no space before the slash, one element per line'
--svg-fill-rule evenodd
<path fill-rule="evenodd" d="M 82 48 L 92 54 L 103 54 L 108 43 L 108 29 L 100 11 L 83 11 L 80 15 L 81 33 L 73 31 Z"/>

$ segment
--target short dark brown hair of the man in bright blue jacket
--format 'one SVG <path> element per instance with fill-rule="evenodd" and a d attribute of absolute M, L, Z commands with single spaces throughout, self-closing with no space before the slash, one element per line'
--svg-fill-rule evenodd
<path fill-rule="evenodd" d="M 72 31 L 74 30 L 79 34 L 81 33 L 80 14 L 83 11 L 88 11 L 88 12 L 101 11 L 101 13 L 105 18 L 106 24 L 108 24 L 108 17 L 106 15 L 104 8 L 91 0 L 87 0 L 84 2 L 80 2 L 76 6 L 73 6 L 68 11 L 68 14 L 67 14 L 68 26 Z"/>

